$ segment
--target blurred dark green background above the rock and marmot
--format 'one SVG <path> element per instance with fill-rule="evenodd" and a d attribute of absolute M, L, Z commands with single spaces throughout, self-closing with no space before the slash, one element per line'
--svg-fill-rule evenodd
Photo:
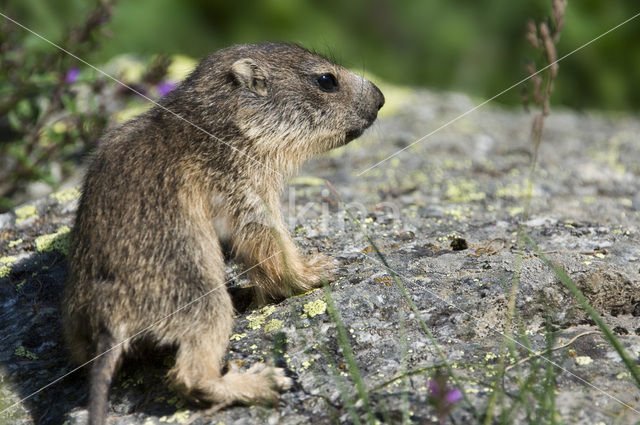
<path fill-rule="evenodd" d="M 3 13 L 57 40 L 94 7 L 87 0 L 12 0 Z M 526 76 L 533 55 L 526 22 L 549 14 L 548 0 L 120 0 L 111 35 L 86 58 L 167 53 L 201 57 L 244 42 L 285 40 L 389 82 L 487 98 Z M 640 11 L 637 1 L 570 0 L 562 56 Z M 576 109 L 640 106 L 640 18 L 560 65 L 553 104 Z M 49 48 L 35 36 L 30 49 Z M 520 103 L 515 89 L 497 99 Z"/>

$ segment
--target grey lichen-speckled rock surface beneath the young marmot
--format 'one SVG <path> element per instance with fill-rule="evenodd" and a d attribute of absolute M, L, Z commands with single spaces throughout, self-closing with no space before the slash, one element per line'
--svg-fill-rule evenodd
<path fill-rule="evenodd" d="M 383 423 L 401 423 L 407 411 L 413 422 L 434 420 L 428 382 L 442 360 L 324 179 L 400 276 L 478 411 L 486 409 L 505 352 L 509 292 L 519 272 L 519 320 L 511 329 L 522 344 L 513 348 L 522 363 L 507 372 L 505 407 L 496 412 L 515 403 L 518 377 L 538 373 L 533 385 L 543 380 L 547 363 L 532 352 L 547 347 L 552 330 L 557 349 L 545 357 L 557 366 L 559 418 L 580 424 L 640 420 L 632 410 L 640 410 L 640 392 L 618 355 L 553 271 L 530 247 L 521 249 L 517 239 L 518 229 L 525 229 L 568 272 L 637 360 L 640 120 L 552 111 L 525 217 L 533 151 L 530 116 L 484 107 L 412 146 L 474 103 L 458 94 L 385 93 L 400 99 L 389 103 L 395 105 L 390 113 L 362 139 L 311 161 L 283 197 L 301 250 L 322 251 L 341 263 L 331 298 L 373 414 Z M 0 215 L 0 424 L 86 420 L 86 367 L 70 373 L 58 307 L 76 197 L 77 192 L 67 191 Z M 248 283 L 238 265 L 230 263 L 228 271 L 229 286 Z M 366 421 L 367 408 L 357 401 L 328 301 L 320 289 L 237 316 L 229 360 L 242 367 L 276 361 L 295 377 L 296 385 L 278 406 L 205 414 L 165 385 L 170 352 L 141 353 L 118 373 L 109 423 L 352 423 L 354 404 Z M 406 387 L 402 379 L 391 381 L 403 371 L 412 372 Z M 525 408 L 510 414 L 507 422 L 528 421 Z M 478 422 L 463 402 L 451 415 L 455 423 Z"/>

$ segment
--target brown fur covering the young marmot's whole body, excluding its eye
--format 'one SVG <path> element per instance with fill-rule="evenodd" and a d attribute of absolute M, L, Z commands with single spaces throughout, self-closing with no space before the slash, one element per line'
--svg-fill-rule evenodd
<path fill-rule="evenodd" d="M 321 89 L 323 73 L 336 91 Z M 383 103 L 369 81 L 301 47 L 238 45 L 205 58 L 163 99 L 188 122 L 155 107 L 106 134 L 73 230 L 63 321 L 74 359 L 153 324 L 140 337 L 178 347 L 169 376 L 186 394 L 272 400 L 290 385 L 282 370 L 221 374 L 233 319 L 221 239 L 251 268 L 261 302 L 318 286 L 333 263 L 298 252 L 280 193 L 304 160 L 359 136 Z M 104 421 L 95 410 L 132 342 L 94 365 L 92 423 Z"/>

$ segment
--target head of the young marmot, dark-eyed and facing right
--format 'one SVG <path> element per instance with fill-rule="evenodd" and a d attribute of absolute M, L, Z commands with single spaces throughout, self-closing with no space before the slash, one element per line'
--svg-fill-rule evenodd
<path fill-rule="evenodd" d="M 201 62 L 182 86 L 212 130 L 232 127 L 257 152 L 299 160 L 344 145 L 384 104 L 370 81 L 300 46 L 232 46 Z M 172 96 L 177 99 L 180 90 Z M 207 123 L 206 121 L 209 121 Z M 287 152 L 289 151 L 289 152 Z M 287 152 L 287 153 L 285 153 Z"/>

